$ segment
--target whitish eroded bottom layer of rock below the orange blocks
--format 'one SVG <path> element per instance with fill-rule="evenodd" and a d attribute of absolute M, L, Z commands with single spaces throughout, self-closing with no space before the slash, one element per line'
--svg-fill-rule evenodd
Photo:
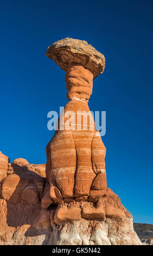
<path fill-rule="evenodd" d="M 67 222 L 52 234 L 50 245 L 142 245 L 130 218 Z"/>

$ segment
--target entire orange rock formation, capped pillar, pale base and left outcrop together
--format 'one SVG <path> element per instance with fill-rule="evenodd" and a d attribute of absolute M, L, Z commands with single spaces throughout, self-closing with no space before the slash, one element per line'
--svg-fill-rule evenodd
<path fill-rule="evenodd" d="M 141 245 L 131 214 L 107 188 L 106 148 L 88 108 L 105 57 L 71 38 L 55 42 L 46 55 L 66 71 L 69 101 L 47 145 L 46 166 L 0 155 L 0 242 Z"/>

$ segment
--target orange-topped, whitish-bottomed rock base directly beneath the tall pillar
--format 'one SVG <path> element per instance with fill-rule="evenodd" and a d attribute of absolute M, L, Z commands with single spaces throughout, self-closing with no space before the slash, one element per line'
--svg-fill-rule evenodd
<path fill-rule="evenodd" d="M 107 188 L 96 203 L 58 206 L 52 214 L 52 245 L 141 245 L 131 214 Z"/>

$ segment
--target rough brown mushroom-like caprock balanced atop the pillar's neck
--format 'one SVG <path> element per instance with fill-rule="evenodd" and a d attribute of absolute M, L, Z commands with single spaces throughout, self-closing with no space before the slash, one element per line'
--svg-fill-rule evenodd
<path fill-rule="evenodd" d="M 104 55 L 86 41 L 78 39 L 65 38 L 54 42 L 48 47 L 46 55 L 66 72 L 70 65 L 77 63 L 90 70 L 95 78 L 105 68 Z"/>

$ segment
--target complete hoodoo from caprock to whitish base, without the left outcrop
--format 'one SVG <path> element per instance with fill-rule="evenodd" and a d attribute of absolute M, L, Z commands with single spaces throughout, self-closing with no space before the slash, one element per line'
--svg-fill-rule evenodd
<path fill-rule="evenodd" d="M 46 55 L 65 70 L 69 100 L 46 148 L 49 195 L 59 205 L 52 213 L 52 244 L 139 245 L 131 214 L 107 188 L 106 148 L 88 108 L 105 57 L 86 41 L 71 38 L 55 42 Z"/>

